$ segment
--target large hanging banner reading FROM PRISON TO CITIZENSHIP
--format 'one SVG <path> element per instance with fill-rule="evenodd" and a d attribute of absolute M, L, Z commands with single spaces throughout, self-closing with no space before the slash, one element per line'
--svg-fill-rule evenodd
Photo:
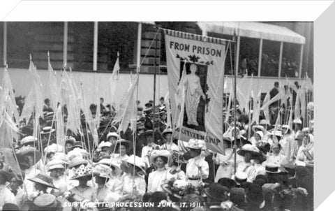
<path fill-rule="evenodd" d="M 226 42 L 181 31 L 165 29 L 164 32 L 173 122 L 176 123 L 180 112 L 184 112 L 184 121 L 173 136 L 184 141 L 191 138 L 205 140 L 209 150 L 223 154 Z M 181 79 L 184 68 L 186 72 Z M 181 80 L 185 86 L 178 98 L 175 95 L 181 90 Z M 176 101 L 179 104 L 181 98 L 184 99 L 184 110 L 176 106 Z"/>

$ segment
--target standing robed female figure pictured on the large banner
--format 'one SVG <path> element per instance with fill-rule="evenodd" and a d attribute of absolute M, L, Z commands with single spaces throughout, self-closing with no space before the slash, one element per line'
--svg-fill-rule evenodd
<path fill-rule="evenodd" d="M 197 71 L 197 66 L 195 64 L 190 65 L 190 74 L 187 74 L 185 77 L 186 85 L 186 115 L 187 115 L 187 124 L 193 124 L 198 126 L 197 115 L 198 115 L 198 106 L 200 102 L 200 97 L 206 99 L 204 92 L 202 92 L 202 87 L 200 85 L 200 78 L 198 75 L 195 75 Z"/>

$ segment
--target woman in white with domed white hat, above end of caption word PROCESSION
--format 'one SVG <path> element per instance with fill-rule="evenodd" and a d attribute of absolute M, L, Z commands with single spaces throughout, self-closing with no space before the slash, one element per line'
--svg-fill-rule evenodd
<path fill-rule="evenodd" d="M 140 196 L 145 194 L 147 183 L 144 180 L 146 164 L 144 161 L 133 154 L 128 157 L 121 165 L 126 165 L 128 173 L 122 178 L 121 195 Z"/>

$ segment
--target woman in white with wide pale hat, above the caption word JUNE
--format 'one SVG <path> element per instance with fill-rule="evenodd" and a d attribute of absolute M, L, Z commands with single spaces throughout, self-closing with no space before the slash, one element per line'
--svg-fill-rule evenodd
<path fill-rule="evenodd" d="M 173 177 L 165 167 L 169 160 L 172 161 L 172 156 L 168 150 L 154 150 L 151 152 L 150 160 L 156 164 L 157 169 L 149 173 L 147 192 L 162 191 L 161 185 Z"/>

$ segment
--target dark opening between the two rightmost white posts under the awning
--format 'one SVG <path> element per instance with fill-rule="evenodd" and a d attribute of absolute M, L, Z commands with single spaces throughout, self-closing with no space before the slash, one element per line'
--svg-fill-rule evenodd
<path fill-rule="evenodd" d="M 299 77 L 301 45 L 295 43 L 283 44 L 283 59 L 281 61 L 281 77 Z"/>

